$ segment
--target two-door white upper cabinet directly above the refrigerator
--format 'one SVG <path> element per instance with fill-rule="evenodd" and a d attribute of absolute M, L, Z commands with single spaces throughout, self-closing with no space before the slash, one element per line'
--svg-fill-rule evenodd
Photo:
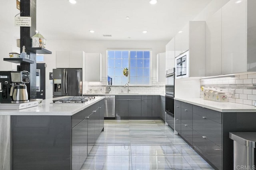
<path fill-rule="evenodd" d="M 56 68 L 83 68 L 84 51 L 56 51 Z"/>

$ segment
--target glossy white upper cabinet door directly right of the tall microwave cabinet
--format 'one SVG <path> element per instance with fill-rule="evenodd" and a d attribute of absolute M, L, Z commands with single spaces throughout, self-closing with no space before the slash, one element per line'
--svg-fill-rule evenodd
<path fill-rule="evenodd" d="M 206 21 L 206 76 L 221 75 L 221 9 Z"/>

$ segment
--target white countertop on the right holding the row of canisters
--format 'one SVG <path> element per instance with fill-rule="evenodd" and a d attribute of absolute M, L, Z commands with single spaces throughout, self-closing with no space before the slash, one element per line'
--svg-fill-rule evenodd
<path fill-rule="evenodd" d="M 239 103 L 231 103 L 231 102 L 216 102 L 204 100 L 202 98 L 174 98 L 178 101 L 183 101 L 186 103 L 190 103 L 192 105 L 197 105 L 201 107 L 205 107 L 208 109 L 212 109 L 219 112 L 256 112 L 256 107 L 252 105 L 243 105 Z"/>

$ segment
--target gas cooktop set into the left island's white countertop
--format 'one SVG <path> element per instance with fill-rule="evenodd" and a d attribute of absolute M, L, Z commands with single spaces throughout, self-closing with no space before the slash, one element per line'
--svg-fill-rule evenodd
<path fill-rule="evenodd" d="M 72 97 L 65 97 L 62 99 L 53 99 L 53 103 L 85 103 L 95 99 L 94 96 L 72 96 Z"/>

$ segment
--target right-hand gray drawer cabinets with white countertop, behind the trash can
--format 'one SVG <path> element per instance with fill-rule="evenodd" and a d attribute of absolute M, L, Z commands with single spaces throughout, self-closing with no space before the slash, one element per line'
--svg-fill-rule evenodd
<path fill-rule="evenodd" d="M 175 98 L 175 130 L 216 169 L 233 169 L 229 132 L 255 132 L 254 120 L 256 107 L 251 105 Z"/>

